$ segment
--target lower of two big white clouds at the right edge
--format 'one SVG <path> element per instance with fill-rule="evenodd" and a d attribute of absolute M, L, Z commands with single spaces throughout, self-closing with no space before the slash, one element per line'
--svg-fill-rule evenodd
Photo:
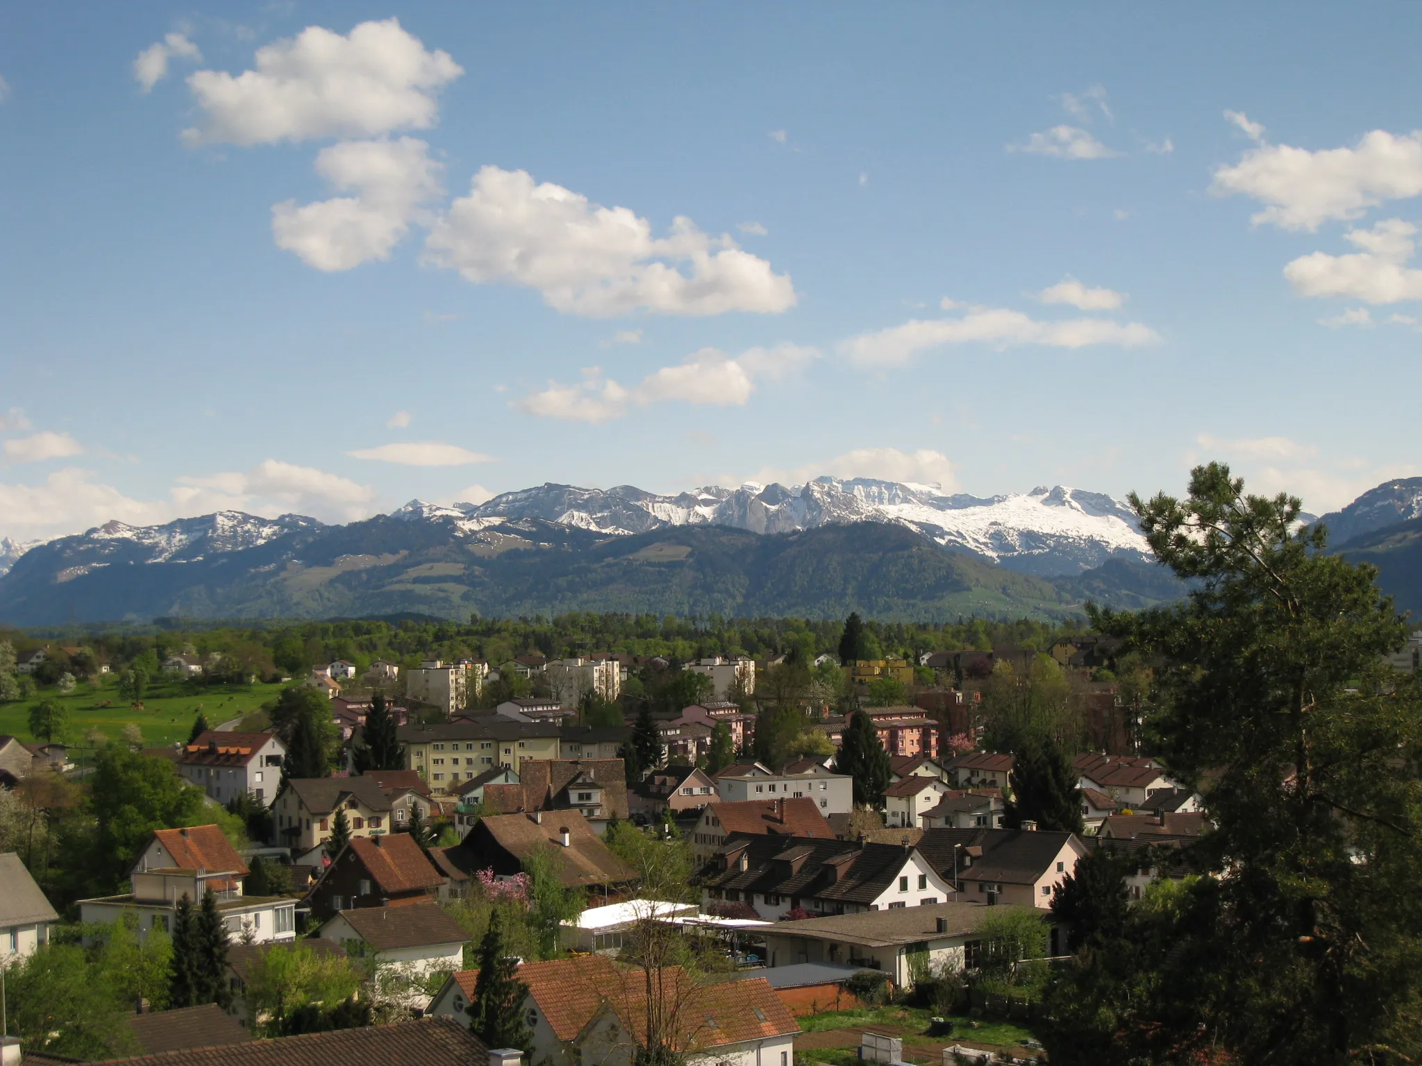
<path fill-rule="evenodd" d="M 1406 266 L 1416 252 L 1416 232 L 1402 219 L 1349 230 L 1344 237 L 1359 252 L 1301 256 L 1284 267 L 1284 277 L 1300 296 L 1344 296 L 1369 304 L 1422 300 L 1422 270 Z"/>

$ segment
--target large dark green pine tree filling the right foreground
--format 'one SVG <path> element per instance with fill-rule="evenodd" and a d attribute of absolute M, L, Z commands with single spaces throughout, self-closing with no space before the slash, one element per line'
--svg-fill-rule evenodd
<path fill-rule="evenodd" d="M 1406 625 L 1298 499 L 1227 466 L 1130 506 L 1192 591 L 1092 624 L 1155 664 L 1146 729 L 1204 797 L 1187 854 L 1210 876 L 1132 908 L 1125 964 L 1066 975 L 1052 1062 L 1415 1059 L 1422 684 L 1379 662 Z"/>

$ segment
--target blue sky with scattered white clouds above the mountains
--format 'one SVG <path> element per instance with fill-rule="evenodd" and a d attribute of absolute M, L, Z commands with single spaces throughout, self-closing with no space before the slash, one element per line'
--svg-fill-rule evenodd
<path fill-rule="evenodd" d="M 1422 473 L 1422 9 L 1290 11 L 9 4 L 0 537 Z"/>

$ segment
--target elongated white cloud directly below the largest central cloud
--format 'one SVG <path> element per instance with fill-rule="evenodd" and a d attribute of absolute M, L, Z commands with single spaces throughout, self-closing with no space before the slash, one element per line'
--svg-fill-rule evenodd
<path fill-rule="evenodd" d="M 546 389 L 516 399 L 513 407 L 540 418 L 572 422 L 610 422 L 633 407 L 668 399 L 698 407 L 744 407 L 757 381 L 779 381 L 818 355 L 818 350 L 796 344 L 749 348 L 735 358 L 717 348 L 701 348 L 674 367 L 653 371 L 633 388 L 604 378 L 599 367 L 589 367 L 582 382 L 549 382 Z"/>

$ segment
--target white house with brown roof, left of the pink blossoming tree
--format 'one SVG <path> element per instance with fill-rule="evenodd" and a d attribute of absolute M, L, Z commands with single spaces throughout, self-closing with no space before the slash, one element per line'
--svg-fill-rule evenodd
<path fill-rule="evenodd" d="M 468 940 L 464 927 L 434 900 L 340 911 L 316 935 L 371 959 L 377 969 L 400 967 L 422 976 L 459 969 Z"/>

